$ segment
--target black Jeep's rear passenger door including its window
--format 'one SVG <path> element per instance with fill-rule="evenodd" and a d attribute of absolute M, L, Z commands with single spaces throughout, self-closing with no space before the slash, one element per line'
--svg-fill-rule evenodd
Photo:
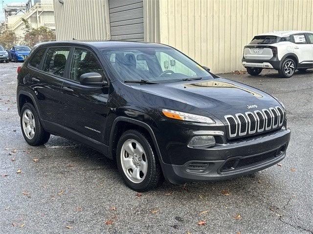
<path fill-rule="evenodd" d="M 41 64 L 36 63 L 35 56 L 28 64 L 33 70 L 31 82 L 38 99 L 41 118 L 61 125 L 62 120 L 59 117 L 63 112 L 61 86 L 69 52 L 70 47 L 50 47 L 44 52 L 45 58 Z M 39 50 L 37 54 L 41 55 L 41 53 L 42 51 Z"/>

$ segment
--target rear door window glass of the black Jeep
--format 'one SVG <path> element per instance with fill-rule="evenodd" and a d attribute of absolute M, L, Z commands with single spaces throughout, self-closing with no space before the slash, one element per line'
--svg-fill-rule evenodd
<path fill-rule="evenodd" d="M 43 70 L 57 76 L 64 75 L 70 48 L 50 48 L 45 55 Z"/>

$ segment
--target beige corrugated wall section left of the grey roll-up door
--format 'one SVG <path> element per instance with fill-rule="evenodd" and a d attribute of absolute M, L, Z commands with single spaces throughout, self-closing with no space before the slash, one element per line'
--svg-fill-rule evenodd
<path fill-rule="evenodd" d="M 106 0 L 54 0 L 56 36 L 58 41 L 101 41 L 107 39 Z"/>

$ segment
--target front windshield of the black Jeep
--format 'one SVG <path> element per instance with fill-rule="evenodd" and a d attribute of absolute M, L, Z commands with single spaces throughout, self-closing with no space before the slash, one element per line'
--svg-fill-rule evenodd
<path fill-rule="evenodd" d="M 102 54 L 122 81 L 212 78 L 204 68 L 173 48 L 118 48 L 102 50 Z"/>

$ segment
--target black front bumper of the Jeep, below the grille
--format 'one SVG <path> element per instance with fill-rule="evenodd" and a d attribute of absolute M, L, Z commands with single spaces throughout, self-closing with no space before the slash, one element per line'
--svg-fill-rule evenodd
<path fill-rule="evenodd" d="M 201 180 L 223 180 L 251 174 L 283 160 L 286 156 L 290 135 L 290 129 L 282 128 L 268 135 L 256 136 L 249 140 L 214 147 L 216 154 L 224 155 L 223 160 L 211 160 L 208 151 L 206 160 L 192 160 L 183 165 L 171 165 L 161 162 L 161 167 L 164 177 L 174 184 Z M 271 155 L 272 157 L 269 157 Z M 236 164 L 231 163 L 237 161 L 239 167 L 236 166 L 232 169 L 232 166 Z M 204 166 L 203 171 L 197 172 L 190 170 L 190 165 L 207 165 L 207 167 Z"/>

